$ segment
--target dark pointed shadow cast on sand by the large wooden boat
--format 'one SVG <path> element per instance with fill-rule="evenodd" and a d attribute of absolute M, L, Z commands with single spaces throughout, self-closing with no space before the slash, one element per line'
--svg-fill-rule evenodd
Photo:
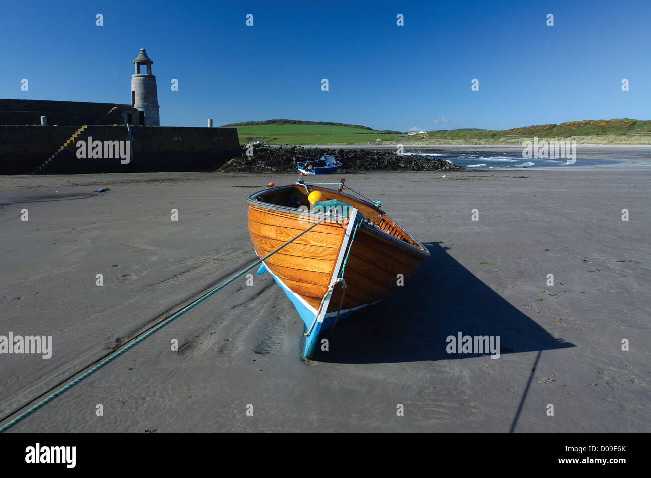
<path fill-rule="evenodd" d="M 376 306 L 339 323 L 328 351 L 312 360 L 339 364 L 383 364 L 458 360 L 484 354 L 448 354 L 446 338 L 500 336 L 501 354 L 575 347 L 555 339 L 527 315 L 502 299 L 447 254 L 441 243 L 424 244 L 422 262 L 404 289 Z"/>

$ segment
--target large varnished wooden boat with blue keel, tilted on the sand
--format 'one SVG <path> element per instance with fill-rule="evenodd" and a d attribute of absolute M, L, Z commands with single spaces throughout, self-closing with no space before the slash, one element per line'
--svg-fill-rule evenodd
<path fill-rule="evenodd" d="M 258 258 L 313 227 L 264 260 L 258 270 L 258 275 L 271 273 L 303 319 L 305 358 L 312 357 L 322 332 L 389 297 L 430 256 L 379 202 L 344 194 L 342 186 L 343 180 L 332 191 L 298 181 L 247 198 L 249 235 Z M 322 197 L 311 205 L 314 192 Z M 341 207 L 320 208 L 333 201 Z M 320 220 L 324 222 L 317 224 Z"/>

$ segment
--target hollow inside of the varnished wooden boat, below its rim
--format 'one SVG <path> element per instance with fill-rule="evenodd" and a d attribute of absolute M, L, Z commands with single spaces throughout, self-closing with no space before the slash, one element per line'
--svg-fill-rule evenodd
<path fill-rule="evenodd" d="M 380 230 L 399 241 L 403 241 L 411 246 L 421 249 L 421 245 L 417 241 L 414 241 L 408 233 L 404 232 L 400 226 L 396 225 L 391 219 L 389 219 L 385 215 L 384 211 L 378 209 L 373 204 L 363 200 L 358 200 L 357 198 L 353 198 L 347 194 L 337 193 L 337 191 L 330 191 L 329 189 L 323 189 L 320 187 L 309 186 L 309 191 L 320 191 L 323 194 L 323 201 L 338 200 L 350 204 L 350 206 L 355 207 L 365 219 L 372 220 L 372 227 L 376 230 Z M 308 192 L 306 191 L 305 186 L 292 185 L 291 187 L 273 189 L 256 195 L 255 200 L 266 204 L 273 204 L 274 206 L 299 209 L 301 206 L 310 207 L 307 196 Z"/>

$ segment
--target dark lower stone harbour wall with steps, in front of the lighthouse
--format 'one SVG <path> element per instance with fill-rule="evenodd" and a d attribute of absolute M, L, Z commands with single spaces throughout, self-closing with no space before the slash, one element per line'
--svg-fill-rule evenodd
<path fill-rule="evenodd" d="M 0 126 L 0 174 L 100 174 L 210 171 L 240 154 L 235 128 L 132 126 L 128 164 L 119 157 L 77 157 L 76 144 L 127 142 L 126 126 L 87 126 L 61 152 L 78 126 Z M 122 144 L 124 146 L 124 144 Z M 51 155 L 55 157 L 49 160 Z"/>

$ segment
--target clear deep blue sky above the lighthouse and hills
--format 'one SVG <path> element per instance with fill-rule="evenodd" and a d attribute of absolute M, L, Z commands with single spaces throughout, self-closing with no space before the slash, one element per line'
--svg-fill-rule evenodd
<path fill-rule="evenodd" d="M 130 103 L 132 61 L 146 48 L 161 126 L 288 118 L 407 131 L 648 120 L 650 22 L 646 0 L 7 1 L 0 98 Z"/>

